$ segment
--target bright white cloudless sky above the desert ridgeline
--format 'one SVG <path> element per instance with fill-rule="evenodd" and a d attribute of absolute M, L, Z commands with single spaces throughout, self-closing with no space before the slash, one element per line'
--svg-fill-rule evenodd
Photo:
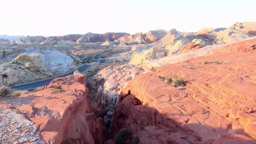
<path fill-rule="evenodd" d="M 63 36 L 256 22 L 256 0 L 1 0 L 0 35 Z"/>

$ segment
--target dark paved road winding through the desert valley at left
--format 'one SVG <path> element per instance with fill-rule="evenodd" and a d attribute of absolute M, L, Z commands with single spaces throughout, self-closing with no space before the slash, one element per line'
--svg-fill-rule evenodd
<path fill-rule="evenodd" d="M 112 49 L 111 49 L 112 50 Z M 111 50 L 108 50 L 108 51 L 105 51 L 105 52 L 102 52 L 102 53 L 99 53 L 97 54 L 94 58 L 95 59 L 99 59 L 98 56 L 102 55 L 103 53 L 106 53 L 106 52 L 109 52 Z M 105 62 L 105 59 L 100 59 L 100 63 L 104 63 Z M 79 72 L 84 72 L 86 69 L 88 69 L 92 64 L 88 64 L 88 65 L 83 65 L 82 67 L 80 67 L 79 69 Z M 62 75 L 59 75 L 57 76 L 57 78 L 59 77 L 64 77 L 64 76 L 67 76 L 67 75 L 71 75 L 73 74 L 75 71 L 72 71 L 72 72 L 68 72 L 68 73 L 65 73 L 65 74 L 62 74 Z M 49 83 L 53 80 L 54 78 L 49 78 L 49 79 L 45 79 L 45 80 L 41 80 L 41 81 L 37 81 L 37 82 L 30 82 L 30 83 L 27 83 L 27 84 L 23 84 L 23 85 L 16 85 L 16 86 L 13 86 L 12 88 L 14 89 L 17 89 L 17 90 L 33 90 L 34 88 L 37 88 L 37 87 L 41 87 L 41 86 L 44 86 L 44 85 L 49 85 Z"/>

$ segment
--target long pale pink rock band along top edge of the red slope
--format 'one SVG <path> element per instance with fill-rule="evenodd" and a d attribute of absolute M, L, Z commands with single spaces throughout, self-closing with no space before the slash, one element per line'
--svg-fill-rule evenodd
<path fill-rule="evenodd" d="M 247 52 L 255 49 L 256 46 L 256 36 L 247 38 L 240 42 L 205 46 L 201 49 L 190 50 L 187 52 L 181 52 L 174 55 L 166 56 L 164 58 L 155 59 L 151 62 L 145 64 L 145 69 L 151 69 L 151 67 L 159 67 L 161 65 L 166 65 L 168 63 L 184 62 L 189 59 L 197 58 L 200 56 L 209 56 L 214 54 L 224 54 L 233 52 Z"/>

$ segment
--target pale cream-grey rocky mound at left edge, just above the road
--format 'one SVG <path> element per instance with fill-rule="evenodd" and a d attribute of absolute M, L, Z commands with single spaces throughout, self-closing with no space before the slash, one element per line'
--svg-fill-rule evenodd
<path fill-rule="evenodd" d="M 21 54 L 13 59 L 12 62 L 1 64 L 0 74 L 8 76 L 9 84 L 45 79 L 53 75 L 42 64 L 41 56 L 37 54 Z"/>

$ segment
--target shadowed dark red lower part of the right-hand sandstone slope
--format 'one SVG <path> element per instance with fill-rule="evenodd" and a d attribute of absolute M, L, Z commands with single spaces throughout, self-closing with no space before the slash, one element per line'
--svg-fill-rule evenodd
<path fill-rule="evenodd" d="M 108 139 L 114 139 L 122 128 L 129 128 L 132 137 L 128 143 L 134 143 L 132 141 L 135 137 L 139 137 L 139 144 L 256 144 L 256 141 L 244 133 L 244 129 L 232 129 L 231 122 L 225 128 L 214 127 L 200 121 L 192 123 L 192 115 L 185 115 L 182 111 L 170 112 L 162 114 L 154 107 L 142 105 L 130 91 L 127 94 L 121 93 L 113 115 L 111 136 Z M 184 121 L 175 121 L 179 118 Z"/>

